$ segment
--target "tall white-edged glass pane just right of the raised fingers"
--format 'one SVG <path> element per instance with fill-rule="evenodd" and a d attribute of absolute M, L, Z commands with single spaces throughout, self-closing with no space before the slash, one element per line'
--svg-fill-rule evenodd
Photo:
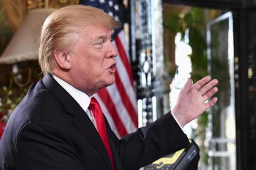
<path fill-rule="evenodd" d="M 218 103 L 211 109 L 209 156 L 212 169 L 235 169 L 235 89 L 232 15 L 209 23 L 209 72 L 219 80 Z"/>

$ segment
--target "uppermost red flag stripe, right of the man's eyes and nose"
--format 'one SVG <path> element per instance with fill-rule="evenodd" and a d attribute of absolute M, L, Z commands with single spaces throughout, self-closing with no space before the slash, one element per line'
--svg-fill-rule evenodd
<path fill-rule="evenodd" d="M 132 88 L 134 88 L 131 65 L 129 63 L 129 60 L 127 59 L 127 55 L 125 54 L 125 50 L 122 43 L 120 42 L 119 36 L 115 37 L 115 43 L 117 44 L 117 50 L 119 51 L 119 56 L 124 64 L 124 67 L 127 69 L 131 86 Z"/>

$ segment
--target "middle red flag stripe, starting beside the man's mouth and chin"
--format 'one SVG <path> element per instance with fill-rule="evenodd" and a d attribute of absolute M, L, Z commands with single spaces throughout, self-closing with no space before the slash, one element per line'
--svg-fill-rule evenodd
<path fill-rule="evenodd" d="M 117 86 L 117 89 L 119 90 L 122 103 L 124 104 L 126 110 L 129 110 L 129 115 L 131 116 L 132 122 L 134 123 L 134 126 L 138 126 L 137 122 L 137 114 L 134 110 L 134 107 L 132 106 L 131 101 L 129 100 L 129 97 L 124 89 L 124 85 L 122 84 L 122 81 L 120 80 L 119 74 L 115 72 L 115 85 Z"/>

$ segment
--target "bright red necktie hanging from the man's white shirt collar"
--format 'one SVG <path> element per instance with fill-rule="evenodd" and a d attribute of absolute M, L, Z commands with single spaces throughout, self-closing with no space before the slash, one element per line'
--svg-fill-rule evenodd
<path fill-rule="evenodd" d="M 109 140 L 108 140 L 105 119 L 103 116 L 102 109 L 100 108 L 100 105 L 98 104 L 98 101 L 96 101 L 95 98 L 91 98 L 91 103 L 89 105 L 89 109 L 93 112 L 93 116 L 95 118 L 97 129 L 98 129 L 98 133 L 100 134 L 100 137 L 102 138 L 102 142 L 105 145 L 105 148 L 107 149 L 108 156 L 110 158 L 112 167 L 113 167 L 113 169 L 115 169 L 115 166 L 113 164 L 112 150 L 110 148 L 110 144 L 109 144 Z"/>

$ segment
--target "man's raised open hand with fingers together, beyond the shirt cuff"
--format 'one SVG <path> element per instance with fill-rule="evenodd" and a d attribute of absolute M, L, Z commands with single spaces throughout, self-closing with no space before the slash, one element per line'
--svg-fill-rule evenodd
<path fill-rule="evenodd" d="M 216 103 L 218 100 L 216 97 L 210 99 L 218 91 L 218 88 L 215 87 L 216 84 L 218 84 L 218 80 L 211 81 L 210 76 L 202 78 L 194 85 L 191 79 L 187 80 L 172 110 L 182 127 Z"/>

